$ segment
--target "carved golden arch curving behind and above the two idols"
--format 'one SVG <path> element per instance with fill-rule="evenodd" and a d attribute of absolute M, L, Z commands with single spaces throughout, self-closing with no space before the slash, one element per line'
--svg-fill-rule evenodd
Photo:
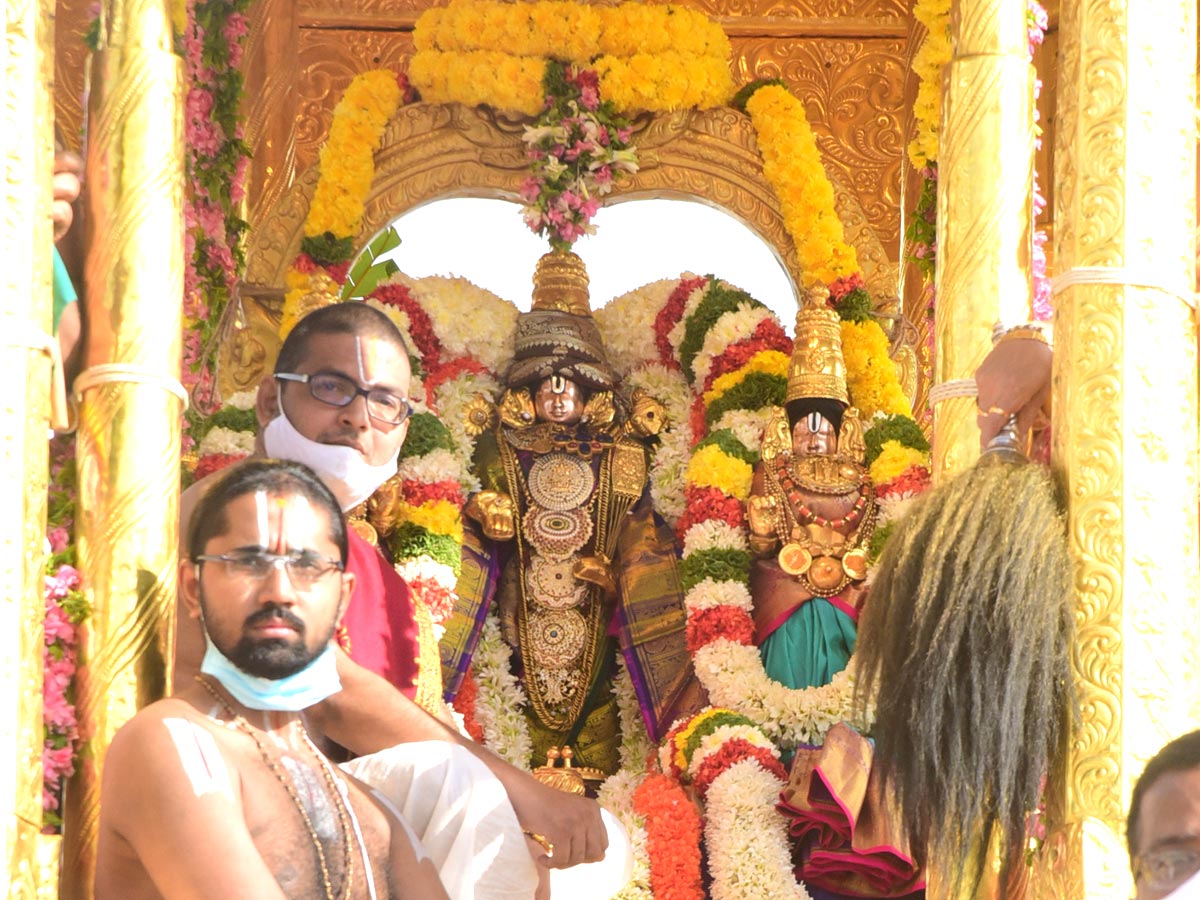
<path fill-rule="evenodd" d="M 458 103 L 402 107 L 389 122 L 376 154 L 376 178 L 365 200 L 360 234 L 376 234 L 396 216 L 437 199 L 516 200 L 529 172 L 521 140 L 526 121 Z M 774 250 L 792 281 L 799 283 L 796 247 L 784 227 L 775 193 L 762 175 L 762 158 L 748 116 L 731 108 L 646 114 L 634 122 L 634 131 L 641 168 L 613 187 L 610 202 L 673 197 L 730 212 Z M 252 300 L 246 308 L 247 328 L 222 340 L 218 382 L 227 396 L 253 388 L 262 367 L 275 355 L 280 288 L 300 251 L 304 220 L 319 174 L 316 166 L 305 170 L 251 230 L 246 253 L 246 281 L 251 287 L 245 296 Z M 887 258 L 853 193 L 836 180 L 834 193 L 846 239 L 858 253 L 868 288 L 884 311 L 896 312 L 899 266 Z M 514 227 L 522 227 L 516 216 Z M 911 364 L 901 367 L 911 376 L 905 378 L 905 386 L 912 396 L 916 358 L 911 353 L 906 356 Z"/>

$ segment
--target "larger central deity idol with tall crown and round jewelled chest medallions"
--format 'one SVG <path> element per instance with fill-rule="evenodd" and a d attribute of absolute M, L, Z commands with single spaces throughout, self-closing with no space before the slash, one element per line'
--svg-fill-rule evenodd
<path fill-rule="evenodd" d="M 506 390 L 476 444 L 484 490 L 466 511 L 485 540 L 468 535 L 464 571 L 478 577 L 460 580 L 442 653 L 455 690 L 494 604 L 528 696 L 530 762 L 569 746 L 577 766 L 611 774 L 618 650 L 655 740 L 698 708 L 700 689 L 673 535 L 648 490 L 662 408 L 617 390 L 587 284 L 574 253 L 538 264 Z"/>

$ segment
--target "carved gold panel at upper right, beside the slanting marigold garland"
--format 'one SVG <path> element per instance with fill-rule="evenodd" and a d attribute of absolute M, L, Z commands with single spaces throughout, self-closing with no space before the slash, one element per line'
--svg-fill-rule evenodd
<path fill-rule="evenodd" d="M 905 53 L 901 38 L 737 38 L 734 80 L 781 78 L 804 102 L 826 172 L 899 258 Z"/>

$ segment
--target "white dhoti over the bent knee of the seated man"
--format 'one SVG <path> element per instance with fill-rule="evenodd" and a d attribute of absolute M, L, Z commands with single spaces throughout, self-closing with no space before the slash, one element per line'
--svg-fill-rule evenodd
<path fill-rule="evenodd" d="M 499 780 L 444 740 L 400 744 L 342 768 L 385 797 L 416 833 L 451 900 L 529 900 L 538 866 Z"/>

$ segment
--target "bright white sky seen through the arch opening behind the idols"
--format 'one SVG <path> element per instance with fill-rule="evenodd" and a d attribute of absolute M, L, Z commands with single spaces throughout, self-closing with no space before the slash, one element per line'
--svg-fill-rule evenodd
<path fill-rule="evenodd" d="M 772 247 L 733 216 L 689 200 L 628 200 L 596 214 L 596 234 L 575 252 L 590 276 L 592 306 L 659 278 L 716 275 L 779 314 L 788 334 L 796 290 Z M 438 200 L 396 220 L 391 258 L 415 278 L 457 275 L 529 308 L 533 270 L 550 247 L 508 200 Z"/>

